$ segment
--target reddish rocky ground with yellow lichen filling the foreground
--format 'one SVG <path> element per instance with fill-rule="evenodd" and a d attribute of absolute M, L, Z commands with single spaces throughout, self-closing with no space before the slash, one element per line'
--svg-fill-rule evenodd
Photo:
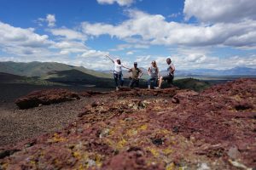
<path fill-rule="evenodd" d="M 62 130 L 2 146 L 0 169 L 256 167 L 256 80 L 240 79 L 201 93 L 123 89 L 79 97 L 19 110 L 44 115 L 55 108 L 78 118 Z"/>

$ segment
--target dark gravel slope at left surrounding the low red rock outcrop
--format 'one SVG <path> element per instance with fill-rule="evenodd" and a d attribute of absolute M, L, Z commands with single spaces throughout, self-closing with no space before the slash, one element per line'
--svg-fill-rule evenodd
<path fill-rule="evenodd" d="M 37 108 L 20 110 L 15 99 L 35 90 L 67 88 L 75 92 L 84 90 L 109 91 L 109 88 L 37 86 L 29 84 L 0 83 L 0 146 L 15 144 L 23 139 L 37 137 L 42 133 L 55 132 L 77 119 L 79 111 L 91 98 L 55 105 L 42 105 Z"/>

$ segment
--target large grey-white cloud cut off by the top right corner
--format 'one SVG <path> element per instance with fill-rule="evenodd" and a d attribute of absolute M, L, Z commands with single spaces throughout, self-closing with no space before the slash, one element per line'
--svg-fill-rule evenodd
<path fill-rule="evenodd" d="M 203 22 L 239 22 L 256 19 L 256 1 L 185 0 L 185 20 L 195 17 Z"/>

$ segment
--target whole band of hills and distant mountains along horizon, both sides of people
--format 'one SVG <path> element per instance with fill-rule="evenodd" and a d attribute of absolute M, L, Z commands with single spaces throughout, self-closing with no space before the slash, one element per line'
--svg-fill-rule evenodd
<path fill-rule="evenodd" d="M 147 75 L 147 70 L 141 68 L 144 76 Z M 86 69 L 83 66 L 66 65 L 55 62 L 30 62 L 16 63 L 12 61 L 0 62 L 0 72 L 9 73 L 23 77 L 42 77 L 43 79 L 64 77 L 67 74 L 69 78 L 81 79 L 81 77 L 101 77 L 112 78 L 113 71 L 93 71 Z M 256 76 L 256 69 L 248 67 L 235 67 L 228 70 L 214 69 L 195 69 L 195 70 L 177 70 L 176 76 Z M 124 76 L 129 77 L 128 71 L 124 71 Z M 164 74 L 164 71 L 161 71 Z M 72 75 L 72 76 L 71 76 Z M 83 76 L 82 76 L 83 75 Z M 90 77 L 92 76 L 92 77 Z M 66 77 L 66 78 L 67 78 Z"/>

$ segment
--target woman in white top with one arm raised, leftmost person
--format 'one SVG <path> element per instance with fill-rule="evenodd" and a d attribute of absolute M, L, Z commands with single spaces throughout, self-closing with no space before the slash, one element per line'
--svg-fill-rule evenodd
<path fill-rule="evenodd" d="M 122 73 L 122 67 L 124 67 L 125 69 L 129 69 L 129 68 L 125 67 L 125 65 L 122 65 L 121 64 L 121 59 L 119 59 L 119 58 L 113 60 L 108 55 L 106 55 L 106 57 L 108 57 L 108 59 L 112 60 L 112 62 L 114 64 L 113 79 L 114 79 L 114 82 L 115 82 L 116 91 L 118 91 L 119 87 L 122 87 L 124 85 L 124 78 L 123 78 L 123 73 Z"/>

